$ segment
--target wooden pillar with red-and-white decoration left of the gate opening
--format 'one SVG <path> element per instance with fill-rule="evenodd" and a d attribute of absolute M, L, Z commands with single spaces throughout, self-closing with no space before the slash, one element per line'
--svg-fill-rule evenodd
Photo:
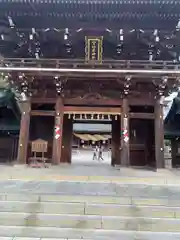
<path fill-rule="evenodd" d="M 57 97 L 55 106 L 54 138 L 52 163 L 59 164 L 62 156 L 62 134 L 63 134 L 63 102 L 61 97 Z"/>

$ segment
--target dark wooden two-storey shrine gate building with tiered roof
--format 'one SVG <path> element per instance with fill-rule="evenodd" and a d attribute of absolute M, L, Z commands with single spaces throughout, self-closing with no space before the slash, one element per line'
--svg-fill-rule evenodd
<path fill-rule="evenodd" d="M 52 164 L 71 163 L 73 124 L 93 120 L 111 125 L 112 166 L 165 168 L 179 20 L 179 0 L 1 0 L 0 86 L 7 121 L 20 122 L 17 163 L 39 139 Z"/>

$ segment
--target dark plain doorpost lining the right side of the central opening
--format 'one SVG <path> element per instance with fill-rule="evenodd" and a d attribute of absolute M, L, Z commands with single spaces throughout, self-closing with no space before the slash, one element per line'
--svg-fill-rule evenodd
<path fill-rule="evenodd" d="M 112 119 L 112 141 L 111 141 L 111 165 L 120 165 L 120 120 L 119 117 L 116 120 L 115 118 Z"/>

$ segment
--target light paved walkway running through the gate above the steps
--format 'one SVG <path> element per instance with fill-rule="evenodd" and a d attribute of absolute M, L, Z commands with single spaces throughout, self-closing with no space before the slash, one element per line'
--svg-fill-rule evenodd
<path fill-rule="evenodd" d="M 0 180 L 16 179 L 23 181 L 91 181 L 91 182 L 121 182 L 141 184 L 178 184 L 180 171 L 143 168 L 113 168 L 110 166 L 111 152 L 104 152 L 104 161 L 93 161 L 93 151 L 73 150 L 72 164 L 50 166 L 45 169 L 35 169 L 27 166 L 0 165 Z"/>

